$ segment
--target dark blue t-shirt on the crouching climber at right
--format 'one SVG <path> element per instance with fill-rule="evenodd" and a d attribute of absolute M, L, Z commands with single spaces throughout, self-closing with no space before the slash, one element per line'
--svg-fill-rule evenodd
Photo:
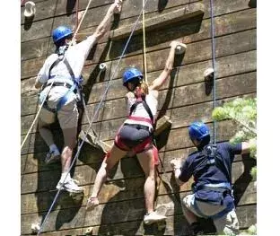
<path fill-rule="evenodd" d="M 242 145 L 230 143 L 217 144 L 217 153 L 222 158 L 222 165 L 226 168 L 230 175 L 230 179 L 227 178 L 226 171 L 220 170 L 216 165 L 207 165 L 206 157 L 201 155 L 199 150 L 197 152 L 188 155 L 186 162 L 184 162 L 181 168 L 181 174 L 179 180 L 187 182 L 191 176 L 194 176 L 195 186 L 205 184 L 218 184 L 218 183 L 230 183 L 232 182 L 232 162 L 235 154 L 241 154 Z M 220 198 L 218 193 L 214 193 L 210 190 L 199 190 L 196 192 L 196 197 L 212 202 L 218 201 Z"/>

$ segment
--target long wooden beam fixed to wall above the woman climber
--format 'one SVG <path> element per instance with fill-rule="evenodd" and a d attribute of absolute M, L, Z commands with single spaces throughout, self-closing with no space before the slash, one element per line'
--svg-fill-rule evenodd
<path fill-rule="evenodd" d="M 145 31 L 153 31 L 162 29 L 168 25 L 175 24 L 178 22 L 188 21 L 190 18 L 203 14 L 204 12 L 201 10 L 188 12 L 187 8 L 182 8 L 179 10 L 172 11 L 170 13 L 163 13 L 161 15 L 157 15 L 147 19 L 145 23 Z M 129 36 L 131 29 L 133 28 L 133 24 L 129 24 L 125 27 L 119 28 L 117 30 L 110 31 L 109 38 L 112 40 L 124 39 Z M 136 30 L 134 35 L 140 34 L 142 32 L 142 22 L 139 22 L 136 26 Z"/>

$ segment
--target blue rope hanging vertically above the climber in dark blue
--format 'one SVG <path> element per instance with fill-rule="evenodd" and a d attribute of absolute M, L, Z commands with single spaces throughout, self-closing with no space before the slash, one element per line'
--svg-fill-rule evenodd
<path fill-rule="evenodd" d="M 213 0 L 210 0 L 210 9 L 211 9 L 211 48 L 212 48 L 212 67 L 214 70 L 213 74 L 213 109 L 216 107 L 216 84 L 215 84 L 215 41 L 214 41 L 214 4 Z M 216 121 L 214 120 L 214 132 L 213 132 L 213 141 L 216 143 Z"/>

